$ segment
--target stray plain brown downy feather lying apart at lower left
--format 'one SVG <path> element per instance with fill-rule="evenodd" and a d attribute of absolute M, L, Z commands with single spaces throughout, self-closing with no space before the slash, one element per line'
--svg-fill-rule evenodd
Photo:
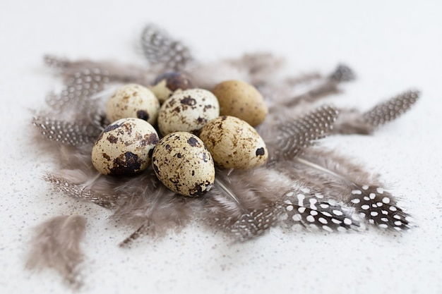
<path fill-rule="evenodd" d="M 81 285 L 78 265 L 83 261 L 80 241 L 85 231 L 83 216 L 55 216 L 35 228 L 29 269 L 55 269 L 73 288 Z"/>

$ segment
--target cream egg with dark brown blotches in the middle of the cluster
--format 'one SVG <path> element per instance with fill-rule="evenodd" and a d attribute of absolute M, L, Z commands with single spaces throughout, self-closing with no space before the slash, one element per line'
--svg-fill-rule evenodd
<path fill-rule="evenodd" d="M 162 104 L 158 128 L 162 135 L 173 132 L 196 133 L 208 121 L 220 115 L 220 104 L 208 90 L 190 89 L 175 92 Z"/>

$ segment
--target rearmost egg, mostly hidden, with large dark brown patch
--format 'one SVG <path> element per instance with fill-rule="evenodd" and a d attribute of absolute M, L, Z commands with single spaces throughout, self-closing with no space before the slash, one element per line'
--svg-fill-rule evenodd
<path fill-rule="evenodd" d="M 193 84 L 186 75 L 171 71 L 158 75 L 153 81 L 153 86 L 150 87 L 150 90 L 160 100 L 160 103 L 164 103 L 175 91 L 192 88 Z"/>

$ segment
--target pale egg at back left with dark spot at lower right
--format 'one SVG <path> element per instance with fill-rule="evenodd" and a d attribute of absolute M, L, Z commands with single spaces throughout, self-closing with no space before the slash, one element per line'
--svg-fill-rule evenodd
<path fill-rule="evenodd" d="M 106 114 L 109 121 L 120 118 L 141 118 L 155 125 L 160 102 L 147 87 L 129 84 L 119 87 L 107 101 Z"/>

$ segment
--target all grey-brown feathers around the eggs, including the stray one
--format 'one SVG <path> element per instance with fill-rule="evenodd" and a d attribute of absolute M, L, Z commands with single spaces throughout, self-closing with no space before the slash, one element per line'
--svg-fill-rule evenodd
<path fill-rule="evenodd" d="M 392 231 L 410 228 L 409 218 L 381 179 L 346 156 L 316 144 L 333 134 L 369 135 L 417 102 L 407 90 L 369 111 L 318 105 L 354 80 L 339 65 L 328 74 L 285 76 L 284 60 L 272 54 L 245 54 L 216 63 L 198 62 L 186 45 L 148 25 L 141 35 L 146 66 L 107 61 L 70 61 L 45 56 L 47 66 L 64 80 L 61 92 L 50 93 L 47 105 L 33 118 L 35 141 L 58 159 L 44 175 L 54 190 L 113 212 L 112 218 L 133 226 L 121 246 L 141 236 L 164 235 L 201 221 L 240 242 L 257 238 L 273 226 L 299 226 L 319 231 Z M 255 86 L 268 104 L 268 116 L 256 127 L 268 147 L 268 161 L 254 169 L 217 167 L 215 185 L 201 197 L 169 190 L 149 168 L 136 176 L 97 176 L 91 150 L 109 123 L 103 105 L 114 85 L 150 86 L 157 75 L 177 71 L 199 88 L 211 90 L 222 80 Z M 53 267 L 72 286 L 80 285 L 77 265 L 84 216 L 56 216 L 36 228 L 29 267 Z M 57 248 L 57 250 L 53 250 Z"/>

